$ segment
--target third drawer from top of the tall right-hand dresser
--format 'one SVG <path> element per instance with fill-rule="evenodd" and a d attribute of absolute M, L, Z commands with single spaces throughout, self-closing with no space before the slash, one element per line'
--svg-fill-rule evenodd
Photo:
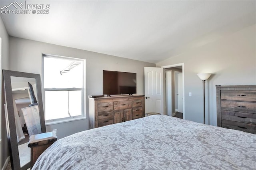
<path fill-rule="evenodd" d="M 228 121 L 236 121 L 242 123 L 250 123 L 256 125 L 256 114 L 255 113 L 243 113 L 234 111 L 221 111 L 221 119 Z"/>

